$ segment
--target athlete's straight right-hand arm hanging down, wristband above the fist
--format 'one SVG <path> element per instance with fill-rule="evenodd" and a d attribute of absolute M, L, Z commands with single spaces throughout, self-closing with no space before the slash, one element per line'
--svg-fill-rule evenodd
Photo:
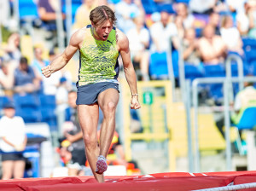
<path fill-rule="evenodd" d="M 118 46 L 119 52 L 122 56 L 125 78 L 130 86 L 131 90 L 131 108 L 138 109 L 141 107 L 138 96 L 137 96 L 137 77 L 134 70 L 134 67 L 131 63 L 131 53 L 129 49 L 129 41 L 123 32 L 118 32 Z"/>

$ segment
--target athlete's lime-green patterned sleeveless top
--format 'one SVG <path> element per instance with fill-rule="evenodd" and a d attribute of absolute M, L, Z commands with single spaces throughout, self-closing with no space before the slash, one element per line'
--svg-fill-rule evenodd
<path fill-rule="evenodd" d="M 78 86 L 98 82 L 116 82 L 119 75 L 119 51 L 116 44 L 116 30 L 109 33 L 108 40 L 96 40 L 87 26 L 79 56 Z"/>

